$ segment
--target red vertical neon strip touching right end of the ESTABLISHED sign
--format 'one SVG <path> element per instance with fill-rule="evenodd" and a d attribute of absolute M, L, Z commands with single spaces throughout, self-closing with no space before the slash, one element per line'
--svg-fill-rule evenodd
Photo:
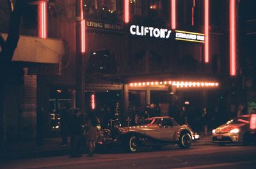
<path fill-rule="evenodd" d="M 204 1 L 204 62 L 209 62 L 209 0 Z"/>

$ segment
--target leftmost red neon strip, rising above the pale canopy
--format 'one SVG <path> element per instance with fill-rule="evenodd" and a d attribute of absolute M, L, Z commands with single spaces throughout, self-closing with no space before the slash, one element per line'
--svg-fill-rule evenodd
<path fill-rule="evenodd" d="M 38 4 L 38 37 L 47 38 L 47 4 L 45 1 Z"/>

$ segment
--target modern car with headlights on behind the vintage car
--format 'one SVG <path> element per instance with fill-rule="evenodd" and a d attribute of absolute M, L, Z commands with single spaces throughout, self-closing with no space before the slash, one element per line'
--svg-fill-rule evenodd
<path fill-rule="evenodd" d="M 252 143 L 252 134 L 250 133 L 251 115 L 241 115 L 228 121 L 226 124 L 212 130 L 212 142 L 219 145 L 226 143 Z"/>

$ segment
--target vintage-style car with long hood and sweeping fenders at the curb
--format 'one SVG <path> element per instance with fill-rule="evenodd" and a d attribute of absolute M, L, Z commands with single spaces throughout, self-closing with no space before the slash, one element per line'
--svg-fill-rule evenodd
<path fill-rule="evenodd" d="M 111 138 L 110 138 L 111 137 Z M 138 151 L 138 147 L 154 147 L 177 143 L 180 148 L 187 149 L 199 135 L 186 125 L 180 126 L 172 117 L 151 117 L 145 119 L 141 126 L 118 128 L 115 135 L 102 131 L 97 143 L 109 145 L 118 143 L 129 152 Z"/>

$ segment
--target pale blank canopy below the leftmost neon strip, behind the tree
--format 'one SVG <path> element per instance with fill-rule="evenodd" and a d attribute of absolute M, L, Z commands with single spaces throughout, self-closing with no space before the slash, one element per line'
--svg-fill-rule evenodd
<path fill-rule="evenodd" d="M 4 39 L 8 36 L 7 34 L 1 35 Z M 63 40 L 21 35 L 12 61 L 60 64 L 64 54 Z"/>

